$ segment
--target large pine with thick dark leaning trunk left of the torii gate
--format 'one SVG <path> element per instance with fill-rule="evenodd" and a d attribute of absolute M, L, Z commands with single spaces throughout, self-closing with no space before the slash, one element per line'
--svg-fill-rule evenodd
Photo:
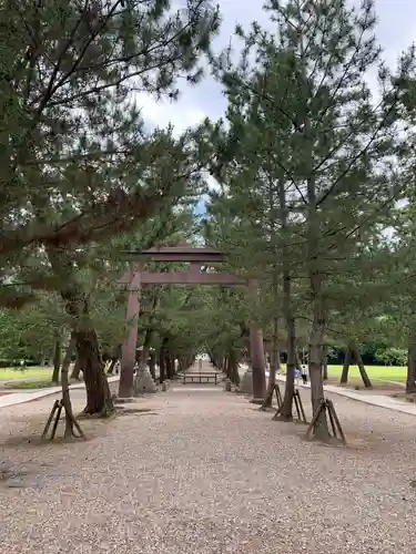
<path fill-rule="evenodd" d="M 2 2 L 0 21 L 1 267 L 9 280 L 12 266 L 30 273 L 33 256 L 52 268 L 84 367 L 85 410 L 105 412 L 77 258 L 197 185 L 199 133 L 148 131 L 134 92 L 174 100 L 179 76 L 197 82 L 219 13 L 209 0 L 177 12 L 165 0 L 21 0 Z M 9 306 L 30 299 L 13 294 Z"/>

